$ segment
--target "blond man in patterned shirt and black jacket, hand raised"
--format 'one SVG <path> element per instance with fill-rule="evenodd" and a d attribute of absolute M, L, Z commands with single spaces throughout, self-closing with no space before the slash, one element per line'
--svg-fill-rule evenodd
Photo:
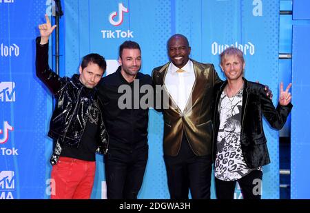
<path fill-rule="evenodd" d="M 275 108 L 265 95 L 264 85 L 243 78 L 243 53 L 234 47 L 220 54 L 220 67 L 227 81 L 214 88 L 214 175 L 218 199 L 234 199 L 238 181 L 244 199 L 260 199 L 262 166 L 270 163 L 262 115 L 280 130 L 293 105 L 289 88 Z"/>

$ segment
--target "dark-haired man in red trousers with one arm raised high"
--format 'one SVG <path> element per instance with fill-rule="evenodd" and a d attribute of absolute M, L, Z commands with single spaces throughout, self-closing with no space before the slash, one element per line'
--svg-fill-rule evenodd
<path fill-rule="evenodd" d="M 52 199 L 89 199 L 96 170 L 95 153 L 107 152 L 108 138 L 95 86 L 106 69 L 99 54 L 87 54 L 72 78 L 59 77 L 48 65 L 48 39 L 56 26 L 39 25 L 36 73 L 56 99 L 48 136 L 54 139 L 50 159 L 55 190 Z"/>

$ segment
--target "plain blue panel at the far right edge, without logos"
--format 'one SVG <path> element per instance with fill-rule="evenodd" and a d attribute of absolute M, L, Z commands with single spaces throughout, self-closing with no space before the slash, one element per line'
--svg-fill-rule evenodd
<path fill-rule="evenodd" d="M 292 110 L 291 122 L 291 199 L 309 199 L 309 153 L 310 132 L 307 122 L 309 113 L 308 68 L 310 50 L 310 1 L 296 0 L 293 3 L 292 36 L 292 97 L 298 103 Z"/>

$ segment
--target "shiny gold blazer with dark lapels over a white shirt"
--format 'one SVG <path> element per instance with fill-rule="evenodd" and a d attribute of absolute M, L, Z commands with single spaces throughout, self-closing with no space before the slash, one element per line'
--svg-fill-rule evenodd
<path fill-rule="evenodd" d="M 192 59 L 191 59 L 192 60 Z M 211 103 L 213 101 L 213 87 L 220 82 L 218 74 L 211 63 L 198 63 L 192 60 L 194 65 L 195 82 L 192 93 L 189 96 L 185 110 L 182 113 L 174 103 L 172 97 L 165 88 L 165 76 L 169 63 L 155 68 L 152 72 L 154 85 L 163 85 L 163 95 L 169 97 L 169 103 L 163 110 L 164 154 L 176 156 L 180 150 L 183 131 L 189 141 L 189 146 L 197 156 L 211 154 L 212 144 L 212 113 Z M 158 94 L 158 91 L 156 91 Z M 163 107 L 161 103 L 161 107 Z"/>

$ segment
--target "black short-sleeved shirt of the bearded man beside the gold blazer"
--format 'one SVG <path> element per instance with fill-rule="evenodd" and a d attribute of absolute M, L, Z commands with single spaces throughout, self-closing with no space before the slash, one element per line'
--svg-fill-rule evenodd
<path fill-rule="evenodd" d="M 135 81 L 136 83 L 128 83 L 122 76 L 121 66 L 119 66 L 116 72 L 104 77 L 99 84 L 99 97 L 103 102 L 101 112 L 105 128 L 109 133 L 110 150 L 113 148 L 131 150 L 147 145 L 149 108 L 141 107 L 141 99 L 146 94 L 141 92 L 141 88 L 145 85 L 152 88 L 152 78 L 148 74 L 138 72 Z M 120 92 L 119 89 L 123 86 L 125 88 L 129 86 L 132 92 L 130 108 L 119 107 L 118 102 L 125 97 L 127 91 Z M 136 103 L 138 107 L 135 106 Z"/>

